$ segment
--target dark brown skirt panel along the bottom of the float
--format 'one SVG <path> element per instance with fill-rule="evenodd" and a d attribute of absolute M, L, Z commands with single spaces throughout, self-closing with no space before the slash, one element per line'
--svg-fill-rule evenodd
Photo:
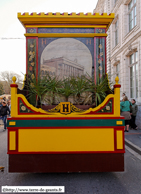
<path fill-rule="evenodd" d="M 12 154 L 9 172 L 124 171 L 124 154 Z"/>

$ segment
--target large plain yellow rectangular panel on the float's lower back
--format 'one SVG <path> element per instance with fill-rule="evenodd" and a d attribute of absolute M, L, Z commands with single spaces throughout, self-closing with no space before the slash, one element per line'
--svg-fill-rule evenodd
<path fill-rule="evenodd" d="M 114 151 L 114 129 L 19 129 L 18 142 L 19 152 Z"/>

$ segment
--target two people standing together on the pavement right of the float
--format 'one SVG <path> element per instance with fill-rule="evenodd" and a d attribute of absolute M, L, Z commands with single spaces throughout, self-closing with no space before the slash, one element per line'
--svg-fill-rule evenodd
<path fill-rule="evenodd" d="M 136 105 L 136 100 L 132 99 L 131 102 L 128 100 L 128 97 L 123 93 L 122 99 L 120 101 L 120 111 L 121 116 L 125 117 L 125 132 L 131 129 L 137 130 L 138 127 L 135 123 L 136 115 L 138 111 L 138 106 Z"/>

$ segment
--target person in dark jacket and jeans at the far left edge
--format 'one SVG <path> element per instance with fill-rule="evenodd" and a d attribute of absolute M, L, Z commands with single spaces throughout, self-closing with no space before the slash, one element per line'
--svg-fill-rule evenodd
<path fill-rule="evenodd" d="M 7 116 L 10 115 L 10 110 L 9 107 L 6 104 L 6 101 L 2 101 L 2 106 L 0 108 L 0 117 L 3 120 L 4 123 L 4 131 L 6 130 L 6 125 L 7 125 Z"/>

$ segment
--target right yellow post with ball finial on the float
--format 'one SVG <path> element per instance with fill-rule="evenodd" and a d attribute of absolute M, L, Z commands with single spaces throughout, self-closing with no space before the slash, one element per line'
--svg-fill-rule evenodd
<path fill-rule="evenodd" d="M 120 116 L 120 87 L 121 85 L 118 83 L 119 78 L 118 76 L 115 78 L 115 85 L 114 85 L 114 115 Z"/>

